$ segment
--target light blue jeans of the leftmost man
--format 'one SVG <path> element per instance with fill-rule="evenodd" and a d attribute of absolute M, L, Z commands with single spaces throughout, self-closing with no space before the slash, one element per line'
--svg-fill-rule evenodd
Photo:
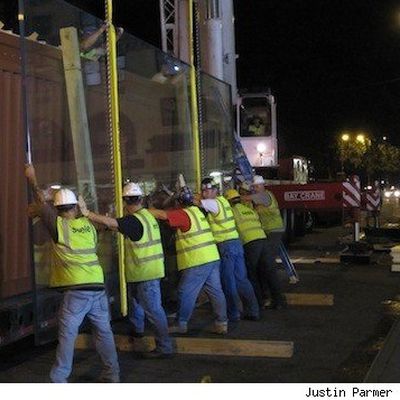
<path fill-rule="evenodd" d="M 118 356 L 106 292 L 68 290 L 59 311 L 56 361 L 50 372 L 52 382 L 67 382 L 72 370 L 75 339 L 85 316 L 93 326 L 96 350 L 104 366 L 103 378 L 110 381 L 119 378 Z"/>

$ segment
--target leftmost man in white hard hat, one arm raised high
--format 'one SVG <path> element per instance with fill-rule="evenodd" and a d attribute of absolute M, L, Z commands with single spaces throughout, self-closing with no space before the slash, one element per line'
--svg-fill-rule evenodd
<path fill-rule="evenodd" d="M 96 349 L 104 365 L 101 380 L 119 382 L 104 274 L 96 254 L 96 229 L 87 218 L 78 215 L 78 201 L 71 190 L 60 189 L 55 193 L 54 209 L 45 202 L 32 165 L 26 166 L 25 175 L 35 200 L 41 205 L 42 222 L 54 242 L 50 287 L 64 292 L 58 320 L 56 361 L 50 379 L 57 383 L 67 382 L 72 370 L 75 340 L 87 316 L 94 327 Z"/>

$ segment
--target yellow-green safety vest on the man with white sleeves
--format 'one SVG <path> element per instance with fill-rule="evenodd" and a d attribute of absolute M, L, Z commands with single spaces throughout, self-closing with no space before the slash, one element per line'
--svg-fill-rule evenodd
<path fill-rule="evenodd" d="M 222 196 L 218 196 L 215 200 L 218 203 L 219 213 L 217 215 L 211 213 L 207 215 L 215 241 L 222 243 L 227 240 L 237 239 L 239 234 L 236 230 L 235 218 L 228 200 Z"/>

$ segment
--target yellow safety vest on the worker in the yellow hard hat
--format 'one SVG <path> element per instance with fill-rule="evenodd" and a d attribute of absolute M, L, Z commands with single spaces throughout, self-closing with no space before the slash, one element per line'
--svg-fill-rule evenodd
<path fill-rule="evenodd" d="M 266 238 L 265 232 L 261 227 L 260 218 L 252 208 L 239 203 L 235 204 L 232 210 L 243 244 Z"/>

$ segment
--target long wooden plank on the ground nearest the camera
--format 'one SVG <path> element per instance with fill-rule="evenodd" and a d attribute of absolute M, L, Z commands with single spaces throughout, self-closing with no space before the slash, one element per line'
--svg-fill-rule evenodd
<path fill-rule="evenodd" d="M 132 339 L 126 335 L 114 335 L 115 343 L 120 351 L 151 351 L 155 347 L 154 338 Z M 175 337 L 176 352 L 179 354 L 201 354 L 235 357 L 274 357 L 291 358 L 293 342 L 269 340 L 239 340 Z M 75 342 L 75 348 L 80 350 L 93 348 L 92 336 L 82 334 Z"/>

